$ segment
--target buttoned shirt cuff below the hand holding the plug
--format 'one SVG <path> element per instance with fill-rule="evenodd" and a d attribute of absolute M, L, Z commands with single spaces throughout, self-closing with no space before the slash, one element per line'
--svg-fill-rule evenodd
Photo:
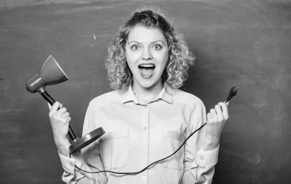
<path fill-rule="evenodd" d="M 217 163 L 218 160 L 218 151 L 219 151 L 219 145 L 217 148 L 214 150 L 210 151 L 204 151 L 203 146 L 201 146 L 200 150 L 197 152 L 195 161 L 193 162 L 193 167 L 207 167 L 207 166 L 212 166 Z"/>

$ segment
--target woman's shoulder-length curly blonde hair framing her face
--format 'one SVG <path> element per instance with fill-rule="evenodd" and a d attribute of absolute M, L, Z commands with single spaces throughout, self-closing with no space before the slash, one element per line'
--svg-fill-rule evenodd
<path fill-rule="evenodd" d="M 130 28 L 146 26 L 158 28 L 164 34 L 168 44 L 168 61 L 162 73 L 162 83 L 172 88 L 179 88 L 187 80 L 187 70 L 194 65 L 194 55 L 181 33 L 175 31 L 164 13 L 156 7 L 142 7 L 132 13 L 131 17 L 118 28 L 108 48 L 105 67 L 112 89 L 127 90 L 133 81 L 132 73 L 126 62 L 126 42 Z"/>

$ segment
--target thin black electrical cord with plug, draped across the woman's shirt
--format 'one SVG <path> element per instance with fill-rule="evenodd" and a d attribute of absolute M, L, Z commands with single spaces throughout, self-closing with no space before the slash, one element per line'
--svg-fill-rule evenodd
<path fill-rule="evenodd" d="M 237 90 L 234 90 L 234 87 L 235 87 L 235 86 L 236 86 L 236 84 L 235 84 L 232 88 L 230 88 L 230 91 L 229 91 L 229 94 L 228 94 L 228 97 L 227 97 L 226 102 L 229 101 L 230 99 L 232 99 L 232 97 L 234 97 L 234 96 L 237 94 L 239 88 L 238 88 Z M 225 102 L 225 103 L 226 103 L 226 102 Z M 76 165 L 75 165 L 75 167 L 77 167 L 79 170 L 81 170 L 81 171 L 83 171 L 83 172 L 87 172 L 87 173 L 111 172 L 111 173 L 114 173 L 114 174 L 132 174 L 132 175 L 134 175 L 134 174 L 139 174 L 139 173 L 145 171 L 148 167 L 151 167 L 152 165 L 154 165 L 154 164 L 156 164 L 156 163 L 158 163 L 158 162 L 161 162 L 161 161 L 163 161 L 163 160 L 165 160 L 165 159 L 167 159 L 167 158 L 173 156 L 177 151 L 179 151 L 179 150 L 183 147 L 183 145 L 186 143 L 186 141 L 187 141 L 187 140 L 188 140 L 188 139 L 189 139 L 193 134 L 195 134 L 197 131 L 199 131 L 199 130 L 200 130 L 202 127 L 204 127 L 205 125 L 206 125 L 206 123 L 204 123 L 201 127 L 199 127 L 199 128 L 198 128 L 197 130 L 195 130 L 192 134 L 190 134 L 190 135 L 187 137 L 187 139 L 183 142 L 183 144 L 178 148 L 178 150 L 176 150 L 174 153 L 172 153 L 171 155 L 169 155 L 169 156 L 167 156 L 167 157 L 165 157 L 165 158 L 163 158 L 163 159 L 161 159 L 161 160 L 158 160 L 158 161 L 156 161 L 156 162 L 151 163 L 150 165 L 148 165 L 147 167 L 145 167 L 144 169 L 142 169 L 141 171 L 138 171 L 138 172 L 114 172 L 114 171 L 109 171 L 109 170 L 102 170 L 102 171 L 97 171 L 97 172 L 89 172 L 89 171 L 85 171 L 85 170 L 81 169 L 80 167 L 78 167 L 78 166 L 76 166 Z M 71 153 L 69 154 L 69 156 L 70 156 L 70 158 L 71 158 Z"/>

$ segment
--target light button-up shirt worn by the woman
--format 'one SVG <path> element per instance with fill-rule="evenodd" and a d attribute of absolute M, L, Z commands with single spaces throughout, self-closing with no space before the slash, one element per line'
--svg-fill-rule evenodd
<path fill-rule="evenodd" d="M 131 86 L 98 96 L 88 106 L 83 135 L 102 127 L 106 133 L 69 158 L 59 153 L 67 184 L 210 184 L 218 149 L 203 151 L 205 127 L 172 157 L 137 172 L 175 152 L 206 122 L 203 102 L 190 93 L 165 85 L 155 100 L 139 101 Z"/>

